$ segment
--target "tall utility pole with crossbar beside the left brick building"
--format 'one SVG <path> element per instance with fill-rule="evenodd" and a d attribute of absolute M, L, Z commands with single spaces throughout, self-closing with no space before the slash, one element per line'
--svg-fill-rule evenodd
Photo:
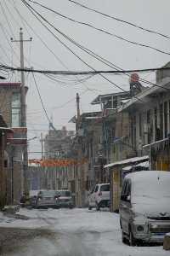
<path fill-rule="evenodd" d="M 11 42 L 20 43 L 20 69 L 21 69 L 21 87 L 20 87 L 20 125 L 26 127 L 26 87 L 25 87 L 25 73 L 24 73 L 24 42 L 31 42 L 32 38 L 24 40 L 22 28 L 20 27 L 20 40 L 11 38 Z M 29 193 L 28 183 L 28 152 L 27 152 L 27 131 L 25 132 L 26 144 L 23 148 L 23 176 L 24 176 L 24 192 Z"/>

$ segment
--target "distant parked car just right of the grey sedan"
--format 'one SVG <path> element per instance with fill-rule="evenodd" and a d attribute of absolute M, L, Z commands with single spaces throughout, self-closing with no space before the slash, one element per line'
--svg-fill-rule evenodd
<path fill-rule="evenodd" d="M 69 190 L 58 190 L 57 191 L 57 199 L 56 199 L 56 206 L 60 207 L 69 207 L 73 208 L 73 198 L 71 195 L 71 191 Z"/>

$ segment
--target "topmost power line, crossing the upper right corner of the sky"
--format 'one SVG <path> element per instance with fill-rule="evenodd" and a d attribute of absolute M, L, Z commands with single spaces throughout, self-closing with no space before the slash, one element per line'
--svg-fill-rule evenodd
<path fill-rule="evenodd" d="M 29 0 L 29 1 L 32 2 L 31 0 Z M 124 24 L 127 24 L 127 25 L 130 25 L 130 26 L 134 26 L 134 27 L 136 27 L 136 28 L 139 28 L 139 29 L 142 30 L 142 31 L 150 32 L 150 33 L 156 34 L 156 35 L 158 35 L 158 36 L 161 36 L 162 38 L 170 39 L 169 36 L 167 36 L 167 35 L 165 35 L 165 34 L 163 34 L 163 33 L 161 33 L 161 32 L 156 32 L 156 31 L 151 30 L 151 29 L 149 29 L 149 28 L 144 28 L 143 26 L 139 26 L 139 25 L 134 24 L 133 22 L 130 22 L 130 21 L 127 21 L 127 20 L 119 19 L 119 18 L 117 18 L 117 17 L 115 17 L 115 16 L 106 15 L 106 14 L 100 12 L 99 10 L 89 8 L 88 6 L 86 6 L 86 5 L 82 4 L 82 3 L 77 3 L 76 1 L 73 1 L 73 0 L 68 0 L 68 1 L 71 2 L 71 3 L 75 3 L 75 4 L 77 4 L 78 6 L 84 8 L 84 9 L 88 9 L 88 10 L 90 10 L 90 11 L 93 11 L 93 12 L 99 14 L 99 15 L 103 15 L 103 16 L 105 16 L 105 17 L 107 17 L 107 18 L 111 18 L 112 20 L 117 20 L 117 21 L 120 21 L 120 22 L 122 22 L 122 23 L 124 23 Z"/>

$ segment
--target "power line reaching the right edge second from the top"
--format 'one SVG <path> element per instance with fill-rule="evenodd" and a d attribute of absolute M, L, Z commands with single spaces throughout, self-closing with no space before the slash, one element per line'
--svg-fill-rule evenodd
<path fill-rule="evenodd" d="M 71 21 L 73 21 L 73 22 L 75 22 L 75 23 L 77 23 L 77 24 L 81 24 L 81 25 L 84 25 L 84 26 L 88 26 L 88 27 L 90 27 L 90 28 L 93 28 L 93 29 L 96 30 L 96 31 L 104 32 L 105 34 L 110 35 L 111 37 L 121 39 L 122 41 L 125 41 L 125 42 L 127 42 L 127 43 L 129 43 L 129 44 L 135 44 L 135 45 L 138 45 L 138 46 L 141 46 L 141 47 L 144 47 L 144 48 L 154 49 L 154 50 L 156 50 L 157 52 L 160 52 L 160 53 L 162 53 L 162 54 L 170 55 L 169 52 L 164 51 L 164 50 L 162 50 L 162 49 L 157 49 L 156 47 L 153 47 L 153 46 L 151 46 L 151 45 L 149 45 L 149 44 L 142 44 L 142 43 L 134 42 L 134 41 L 132 41 L 132 40 L 130 40 L 130 39 L 123 38 L 122 36 L 116 35 L 115 33 L 111 33 L 111 32 L 109 32 L 109 31 L 106 31 L 105 29 L 98 28 L 98 27 L 96 27 L 96 26 L 94 26 L 94 25 L 92 25 L 92 24 L 89 24 L 89 23 L 87 23 L 87 22 L 82 22 L 82 21 L 74 20 L 74 19 L 71 19 L 70 17 L 67 17 L 67 16 L 65 16 L 65 15 L 61 15 L 59 12 L 55 11 L 54 9 L 50 9 L 50 8 L 48 8 L 47 6 L 42 5 L 41 3 L 37 3 L 37 2 L 31 1 L 31 0 L 29 0 L 29 1 L 30 1 L 31 3 L 36 3 L 38 6 L 41 6 L 43 9 L 48 9 L 49 11 L 53 12 L 53 13 L 56 14 L 56 15 L 59 15 L 60 17 L 63 17 L 63 18 L 65 18 L 65 19 L 67 19 L 67 20 L 71 20 Z"/>

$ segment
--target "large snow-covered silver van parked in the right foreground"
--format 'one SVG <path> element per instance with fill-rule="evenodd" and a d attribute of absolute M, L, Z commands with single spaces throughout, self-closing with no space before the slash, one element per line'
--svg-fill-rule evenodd
<path fill-rule="evenodd" d="M 120 201 L 122 241 L 163 242 L 170 232 L 170 172 L 127 174 Z"/>

